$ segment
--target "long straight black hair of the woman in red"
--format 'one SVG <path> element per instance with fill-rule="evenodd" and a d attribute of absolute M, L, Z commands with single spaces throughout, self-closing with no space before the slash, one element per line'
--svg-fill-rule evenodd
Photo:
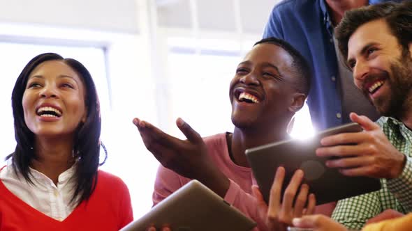
<path fill-rule="evenodd" d="M 78 163 L 75 170 L 77 184 L 71 199 L 73 203 L 82 202 L 82 200 L 89 199 L 96 188 L 98 166 L 105 162 L 107 152 L 105 151 L 105 159 L 102 163 L 99 163 L 101 115 L 98 95 L 89 71 L 79 61 L 73 58 L 63 58 L 59 54 L 45 53 L 32 58 L 23 68 L 15 82 L 11 99 L 17 145 L 15 152 L 8 155 L 6 159 L 12 158 L 15 173 L 21 173 L 27 182 L 33 183 L 29 178 L 29 164 L 32 159 L 36 158 L 34 154 L 34 133 L 27 127 L 24 120 L 22 99 L 31 72 L 45 61 L 62 61 L 66 63 L 84 81 L 87 118 L 84 123 L 82 122 L 79 125 L 73 145 L 73 156 L 78 159 Z M 104 146 L 103 149 L 105 150 Z"/>

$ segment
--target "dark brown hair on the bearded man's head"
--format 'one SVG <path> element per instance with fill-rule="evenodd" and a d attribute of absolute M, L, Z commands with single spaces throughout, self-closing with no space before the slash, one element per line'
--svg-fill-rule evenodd
<path fill-rule="evenodd" d="M 399 45 L 408 50 L 412 42 L 412 1 L 388 1 L 346 11 L 335 29 L 338 47 L 345 60 L 348 58 L 348 41 L 353 33 L 363 24 L 378 19 L 385 20 Z"/>

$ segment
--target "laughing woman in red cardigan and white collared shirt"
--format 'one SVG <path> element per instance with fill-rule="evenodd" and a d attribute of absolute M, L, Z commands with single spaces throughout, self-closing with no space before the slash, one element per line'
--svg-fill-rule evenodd
<path fill-rule="evenodd" d="M 133 220 L 126 184 L 98 170 L 101 116 L 89 71 L 40 54 L 12 94 L 15 152 L 0 169 L 0 230 L 119 230 Z"/>

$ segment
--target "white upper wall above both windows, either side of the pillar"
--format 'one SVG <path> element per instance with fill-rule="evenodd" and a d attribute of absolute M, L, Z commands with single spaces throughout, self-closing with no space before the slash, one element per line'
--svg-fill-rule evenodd
<path fill-rule="evenodd" d="M 12 0 L 0 1 L 0 22 L 64 26 L 119 33 L 139 33 L 141 0 Z M 159 25 L 170 28 L 243 33 L 263 31 L 279 0 L 146 0 L 157 6 Z M 196 7 L 192 7 L 193 4 Z M 193 10 L 195 12 L 193 12 Z M 240 19 L 240 25 L 237 20 Z"/>

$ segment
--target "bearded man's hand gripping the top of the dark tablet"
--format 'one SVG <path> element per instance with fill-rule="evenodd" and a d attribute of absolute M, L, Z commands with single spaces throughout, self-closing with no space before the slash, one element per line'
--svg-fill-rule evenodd
<path fill-rule="evenodd" d="M 326 166 L 339 168 L 344 175 L 387 179 L 398 177 L 404 168 L 406 156 L 388 141 L 381 127 L 369 118 L 356 113 L 350 116 L 353 122 L 363 127 L 364 132 L 325 137 L 321 140 L 325 147 L 318 148 L 316 155 L 341 157 L 326 161 Z"/>

